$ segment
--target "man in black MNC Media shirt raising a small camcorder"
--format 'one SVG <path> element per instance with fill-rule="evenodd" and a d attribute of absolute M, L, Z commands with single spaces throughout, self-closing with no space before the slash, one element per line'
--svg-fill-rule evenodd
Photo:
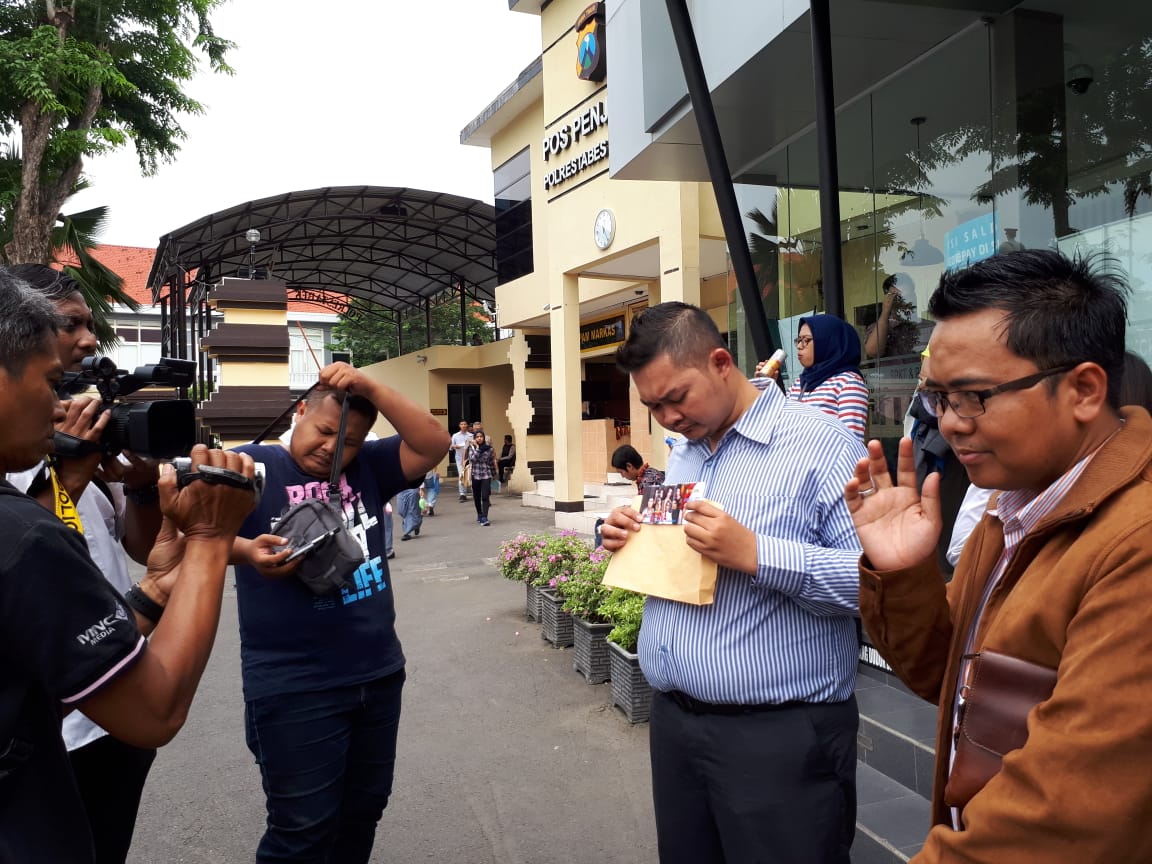
<path fill-rule="evenodd" d="M 58 320 L 43 294 L 0 268 L 2 472 L 41 461 L 65 420 Z M 159 478 L 165 521 L 139 586 L 145 615 L 108 584 L 79 530 L 0 480 L 0 861 L 96 862 L 61 719 L 78 710 L 137 748 L 176 734 L 212 649 L 253 473 L 245 456 L 196 447 L 187 477 L 207 482 L 177 486 L 170 469 Z"/>

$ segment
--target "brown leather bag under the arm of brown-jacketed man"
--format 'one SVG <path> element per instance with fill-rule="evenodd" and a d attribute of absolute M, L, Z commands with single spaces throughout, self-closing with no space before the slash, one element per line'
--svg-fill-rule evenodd
<path fill-rule="evenodd" d="M 1028 741 L 1028 714 L 1052 696 L 1056 670 L 996 651 L 972 660 L 967 696 L 956 730 L 943 803 L 963 810 L 972 796 L 996 775 L 1005 753 Z"/>

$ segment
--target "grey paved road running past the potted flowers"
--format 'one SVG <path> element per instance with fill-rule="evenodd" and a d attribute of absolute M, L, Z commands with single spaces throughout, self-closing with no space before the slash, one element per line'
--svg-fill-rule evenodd
<path fill-rule="evenodd" d="M 524 589 L 492 559 L 552 514 L 498 495 L 492 526 L 446 484 L 391 562 L 408 683 L 395 790 L 373 862 L 655 862 L 647 727 L 590 687 L 524 620 Z M 396 521 L 399 529 L 399 520 Z M 251 862 L 264 826 L 244 745 L 235 591 L 188 725 L 160 751 L 130 864 Z"/>

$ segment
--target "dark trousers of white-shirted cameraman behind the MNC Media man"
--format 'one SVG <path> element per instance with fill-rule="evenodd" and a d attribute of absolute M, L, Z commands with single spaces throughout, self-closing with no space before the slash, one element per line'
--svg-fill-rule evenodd
<path fill-rule="evenodd" d="M 156 750 L 105 735 L 70 751 L 68 758 L 92 828 L 96 864 L 124 864 Z"/>

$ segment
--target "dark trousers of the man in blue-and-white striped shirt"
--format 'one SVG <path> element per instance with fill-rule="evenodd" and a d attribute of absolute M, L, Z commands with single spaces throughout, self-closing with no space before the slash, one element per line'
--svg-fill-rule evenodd
<path fill-rule="evenodd" d="M 855 697 L 743 714 L 652 700 L 660 864 L 849 864 Z"/>

